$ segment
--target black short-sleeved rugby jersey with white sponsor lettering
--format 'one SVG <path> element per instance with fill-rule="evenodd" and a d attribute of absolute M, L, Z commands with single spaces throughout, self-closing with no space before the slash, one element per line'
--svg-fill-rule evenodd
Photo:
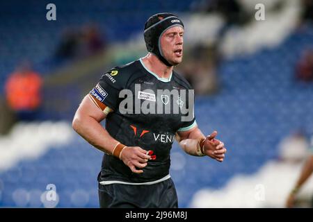
<path fill-rule="evenodd" d="M 102 75 L 90 94 L 113 109 L 106 117 L 106 130 L 126 146 L 154 151 L 157 159 L 149 160 L 143 173 L 138 174 L 122 160 L 105 153 L 99 182 L 141 183 L 168 176 L 175 133 L 196 125 L 193 103 L 189 105 L 188 100 L 194 96 L 188 89 L 191 85 L 175 71 L 168 79 L 159 78 L 141 59 Z M 182 117 L 188 117 L 188 121 Z"/>

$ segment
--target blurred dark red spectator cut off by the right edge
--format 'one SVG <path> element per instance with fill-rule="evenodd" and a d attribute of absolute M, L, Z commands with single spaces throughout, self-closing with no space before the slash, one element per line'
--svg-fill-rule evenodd
<path fill-rule="evenodd" d="M 296 66 L 296 78 L 305 82 L 313 80 L 313 50 L 305 51 Z"/>

